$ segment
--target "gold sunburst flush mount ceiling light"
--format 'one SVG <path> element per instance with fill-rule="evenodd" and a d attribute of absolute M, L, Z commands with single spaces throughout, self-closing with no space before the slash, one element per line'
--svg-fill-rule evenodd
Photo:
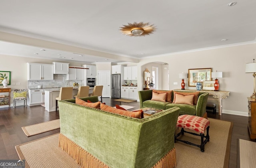
<path fill-rule="evenodd" d="M 134 22 L 133 24 L 128 23 L 128 25 L 123 25 L 124 27 L 120 27 L 121 33 L 124 34 L 125 36 L 145 36 L 152 34 L 152 32 L 155 31 L 155 27 L 153 24 L 149 23 L 136 23 Z"/>

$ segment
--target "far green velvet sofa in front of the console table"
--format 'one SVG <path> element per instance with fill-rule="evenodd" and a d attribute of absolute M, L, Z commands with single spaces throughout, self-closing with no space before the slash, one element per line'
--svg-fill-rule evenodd
<path fill-rule="evenodd" d="M 138 91 L 140 97 L 140 108 L 150 107 L 155 109 L 169 109 L 172 107 L 180 108 L 180 115 L 196 115 L 199 117 L 207 118 L 206 104 L 209 93 L 200 92 L 198 101 L 196 105 L 186 105 L 186 104 L 174 104 L 170 102 L 154 101 L 152 99 L 152 90 Z M 181 92 L 193 92 L 193 91 L 181 91 Z M 173 101 L 173 91 L 172 91 L 172 101 Z"/>

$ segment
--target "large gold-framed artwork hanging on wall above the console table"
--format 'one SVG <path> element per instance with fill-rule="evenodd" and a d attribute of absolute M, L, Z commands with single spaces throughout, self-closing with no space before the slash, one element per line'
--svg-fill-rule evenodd
<path fill-rule="evenodd" d="M 210 81 L 212 68 L 188 69 L 188 86 L 196 86 L 197 82 Z"/>

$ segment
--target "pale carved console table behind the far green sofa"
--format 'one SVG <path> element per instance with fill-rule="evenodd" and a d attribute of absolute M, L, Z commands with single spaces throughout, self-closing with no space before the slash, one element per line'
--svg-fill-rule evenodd
<path fill-rule="evenodd" d="M 198 90 L 181 90 L 181 89 L 174 89 L 174 91 L 198 91 Z M 199 92 L 208 92 L 210 96 L 208 97 L 209 100 L 217 100 L 219 105 L 219 115 L 222 115 L 222 99 L 226 99 L 229 96 L 229 91 L 208 91 L 208 90 L 201 90 Z"/>

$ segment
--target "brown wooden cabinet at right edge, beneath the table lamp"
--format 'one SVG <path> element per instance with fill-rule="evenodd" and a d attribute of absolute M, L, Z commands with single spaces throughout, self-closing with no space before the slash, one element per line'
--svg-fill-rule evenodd
<path fill-rule="evenodd" d="M 248 99 L 248 130 L 250 138 L 256 140 L 256 99 Z"/>

